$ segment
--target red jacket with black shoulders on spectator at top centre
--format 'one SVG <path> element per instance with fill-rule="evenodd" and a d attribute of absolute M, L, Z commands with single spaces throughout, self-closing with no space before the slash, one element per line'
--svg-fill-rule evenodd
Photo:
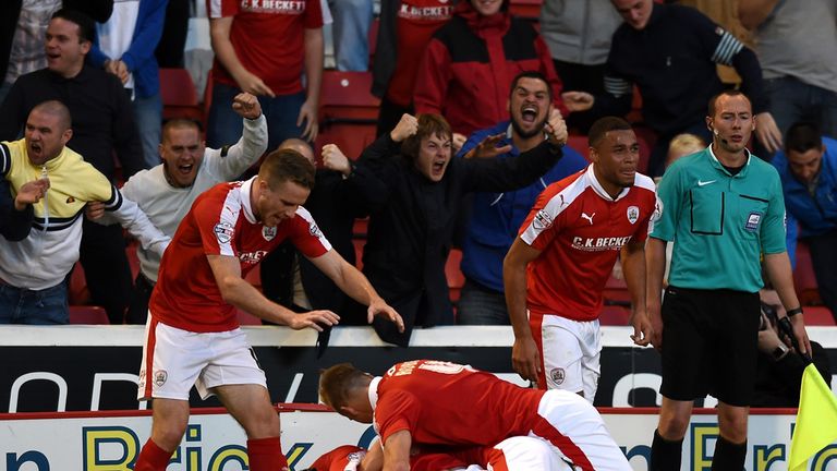
<path fill-rule="evenodd" d="M 549 81 L 556 106 L 561 85 L 544 39 L 509 13 L 510 0 L 462 0 L 433 35 L 418 67 L 415 111 L 442 114 L 464 135 L 509 119 L 507 93 L 523 71 Z"/>

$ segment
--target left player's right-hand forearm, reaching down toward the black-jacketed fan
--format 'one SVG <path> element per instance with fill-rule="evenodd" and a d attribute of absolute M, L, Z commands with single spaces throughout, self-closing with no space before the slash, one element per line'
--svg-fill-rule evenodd
<path fill-rule="evenodd" d="M 404 321 L 401 318 L 401 315 L 387 304 L 378 295 L 378 292 L 375 291 L 375 288 L 372 287 L 369 280 L 357 268 L 340 256 L 337 251 L 331 249 L 316 258 L 311 258 L 311 262 L 326 276 L 331 278 L 335 285 L 344 293 L 359 303 L 368 306 L 366 310 L 366 321 L 369 324 L 372 324 L 375 316 L 379 316 L 395 323 L 398 326 L 398 331 L 404 331 Z"/>

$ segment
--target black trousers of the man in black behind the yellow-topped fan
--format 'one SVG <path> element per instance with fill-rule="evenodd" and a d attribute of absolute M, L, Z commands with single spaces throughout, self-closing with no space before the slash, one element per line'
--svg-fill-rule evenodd
<path fill-rule="evenodd" d="M 84 220 L 81 257 L 92 303 L 105 307 L 111 324 L 122 324 L 131 299 L 131 267 L 120 226 Z"/>

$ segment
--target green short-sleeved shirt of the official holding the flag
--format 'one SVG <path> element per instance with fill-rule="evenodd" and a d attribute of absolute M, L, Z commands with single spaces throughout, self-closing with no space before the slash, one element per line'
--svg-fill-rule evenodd
<path fill-rule="evenodd" d="M 779 174 L 749 153 L 736 176 L 712 147 L 683 157 L 666 171 L 657 197 L 651 237 L 675 242 L 671 286 L 756 292 L 761 254 L 786 251 Z"/>

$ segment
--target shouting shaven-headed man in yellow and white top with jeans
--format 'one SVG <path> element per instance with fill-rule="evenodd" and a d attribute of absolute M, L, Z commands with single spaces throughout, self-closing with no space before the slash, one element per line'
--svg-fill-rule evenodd
<path fill-rule="evenodd" d="M 78 259 L 82 214 L 87 202 L 105 210 L 159 254 L 169 238 L 158 231 L 136 204 L 82 156 L 66 147 L 73 135 L 70 110 L 60 101 L 37 105 L 26 120 L 26 136 L 0 143 L 0 169 L 20 194 L 25 183 L 49 179 L 45 201 L 35 204 L 29 237 L 0 244 L 0 323 L 68 324 L 64 278 Z M 41 185 L 43 190 L 43 185 Z"/>

